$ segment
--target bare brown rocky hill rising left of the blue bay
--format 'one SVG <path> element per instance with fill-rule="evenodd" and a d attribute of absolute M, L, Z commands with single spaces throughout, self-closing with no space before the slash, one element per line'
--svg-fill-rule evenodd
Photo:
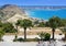
<path fill-rule="evenodd" d="M 4 22 L 9 19 L 12 20 L 12 16 L 14 16 L 15 14 L 23 16 L 26 16 L 24 10 L 22 10 L 21 8 L 19 8 L 18 5 L 12 5 L 12 4 L 6 4 L 1 7 L 0 10 L 0 19 Z M 22 18 L 18 18 L 18 19 L 22 19 Z M 13 20 L 15 20 L 16 18 L 14 18 Z M 12 21 L 13 21 L 12 20 Z"/>

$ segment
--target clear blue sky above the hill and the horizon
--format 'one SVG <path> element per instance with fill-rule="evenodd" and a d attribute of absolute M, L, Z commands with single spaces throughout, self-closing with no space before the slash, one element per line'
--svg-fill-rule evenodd
<path fill-rule="evenodd" d="M 66 5 L 66 0 L 0 0 L 2 4 L 18 5 Z"/>

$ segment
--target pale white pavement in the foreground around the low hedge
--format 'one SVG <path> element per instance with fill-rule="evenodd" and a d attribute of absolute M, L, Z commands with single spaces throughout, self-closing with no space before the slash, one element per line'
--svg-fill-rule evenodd
<path fill-rule="evenodd" d="M 23 37 L 23 36 L 18 36 L 18 37 Z M 37 35 L 28 35 L 28 38 L 34 38 L 38 37 Z M 55 35 L 55 38 L 61 39 L 64 37 L 63 35 Z M 3 37 L 4 42 L 0 42 L 0 46 L 36 46 L 37 42 L 12 42 L 14 38 L 14 35 L 4 35 Z M 47 42 L 43 42 L 45 46 L 47 46 Z M 55 46 L 64 46 L 66 45 L 66 42 L 57 41 L 55 43 Z M 51 43 L 51 46 L 53 46 L 53 43 Z"/>

